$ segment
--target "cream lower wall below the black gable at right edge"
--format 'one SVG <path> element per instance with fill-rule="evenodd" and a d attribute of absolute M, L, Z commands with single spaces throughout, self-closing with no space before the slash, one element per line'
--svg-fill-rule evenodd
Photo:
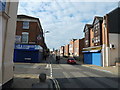
<path fill-rule="evenodd" d="M 115 65 L 116 59 L 120 58 L 118 55 L 118 51 L 120 51 L 120 46 L 118 46 L 120 45 L 118 43 L 118 37 L 120 37 L 120 34 L 109 33 L 109 43 L 115 45 L 115 49 L 110 49 L 110 65 Z"/>

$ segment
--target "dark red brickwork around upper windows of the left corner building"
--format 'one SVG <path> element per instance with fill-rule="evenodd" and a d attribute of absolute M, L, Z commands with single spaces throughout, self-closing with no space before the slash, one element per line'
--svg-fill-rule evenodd
<path fill-rule="evenodd" d="M 45 46 L 43 36 L 41 40 L 37 40 L 38 35 L 40 34 L 43 35 L 43 32 L 40 31 L 40 29 L 42 28 L 39 28 L 37 22 L 29 22 L 29 29 L 23 29 L 22 27 L 23 27 L 23 21 L 17 21 L 16 35 L 22 36 L 22 32 L 28 32 L 29 33 L 29 40 L 28 40 L 29 44 L 30 42 L 35 42 L 35 44 L 38 44 L 42 47 Z"/>

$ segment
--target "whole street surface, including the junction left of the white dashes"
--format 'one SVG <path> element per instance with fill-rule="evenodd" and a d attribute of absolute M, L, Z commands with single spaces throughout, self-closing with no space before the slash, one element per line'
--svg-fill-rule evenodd
<path fill-rule="evenodd" d="M 67 64 L 64 59 L 56 64 L 53 57 L 47 63 L 15 64 L 14 88 L 31 88 L 39 81 L 38 75 L 46 73 L 58 81 L 60 89 L 68 88 L 118 88 L 118 78 L 108 72 L 102 72 L 80 64 Z M 26 82 L 26 84 L 21 82 Z M 21 85 L 19 85 L 21 83 Z"/>

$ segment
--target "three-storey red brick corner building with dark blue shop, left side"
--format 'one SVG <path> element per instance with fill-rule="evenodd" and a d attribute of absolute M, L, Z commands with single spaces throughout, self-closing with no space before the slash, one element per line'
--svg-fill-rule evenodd
<path fill-rule="evenodd" d="M 14 62 L 40 62 L 47 46 L 39 18 L 18 15 L 16 24 Z"/>

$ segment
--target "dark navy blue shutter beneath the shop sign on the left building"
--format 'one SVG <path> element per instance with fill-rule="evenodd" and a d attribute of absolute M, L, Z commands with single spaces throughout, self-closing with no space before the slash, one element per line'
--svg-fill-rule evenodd
<path fill-rule="evenodd" d="M 31 58 L 31 60 L 25 60 Z M 37 63 L 43 58 L 42 52 L 39 50 L 14 49 L 14 62 Z"/>

